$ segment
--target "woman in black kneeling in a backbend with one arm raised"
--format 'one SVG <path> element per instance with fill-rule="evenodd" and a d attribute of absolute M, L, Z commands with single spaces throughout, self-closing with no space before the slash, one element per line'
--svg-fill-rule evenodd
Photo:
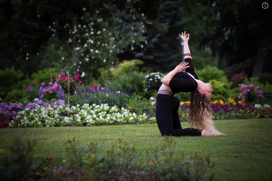
<path fill-rule="evenodd" d="M 210 83 L 204 83 L 197 77 L 191 60 L 188 40 L 190 34 L 181 33 L 184 42 L 184 59 L 174 70 L 161 81 L 156 99 L 156 121 L 162 135 L 172 136 L 211 136 L 222 135 L 214 128 L 211 113 Z M 186 72 L 183 69 L 186 68 Z M 188 122 L 191 127 L 182 129 L 178 116 L 180 101 L 175 93 L 191 92 Z M 203 128 L 203 129 L 200 129 Z"/>

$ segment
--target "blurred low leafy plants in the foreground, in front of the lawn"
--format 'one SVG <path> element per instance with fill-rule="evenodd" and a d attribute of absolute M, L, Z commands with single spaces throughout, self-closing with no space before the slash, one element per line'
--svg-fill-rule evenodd
<path fill-rule="evenodd" d="M 103 152 L 103 144 L 77 148 L 75 138 L 68 140 L 66 157 L 56 162 L 35 157 L 34 145 L 17 139 L 0 150 L 0 180 L 212 180 L 209 157 L 184 159 L 171 137 L 149 148 L 146 160 L 139 160 L 135 147 L 122 139 Z"/>

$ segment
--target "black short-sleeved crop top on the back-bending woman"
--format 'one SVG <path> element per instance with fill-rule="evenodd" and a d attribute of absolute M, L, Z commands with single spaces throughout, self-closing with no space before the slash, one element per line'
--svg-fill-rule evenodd
<path fill-rule="evenodd" d="M 188 62 L 190 67 L 186 69 L 186 72 L 178 72 L 175 74 L 175 76 L 169 82 L 169 87 L 174 94 L 179 92 L 193 92 L 197 88 L 197 82 L 194 80 L 194 78 L 199 78 L 194 71 L 192 59 L 186 58 L 185 62 Z M 187 74 L 187 72 L 193 75 L 194 78 Z"/>

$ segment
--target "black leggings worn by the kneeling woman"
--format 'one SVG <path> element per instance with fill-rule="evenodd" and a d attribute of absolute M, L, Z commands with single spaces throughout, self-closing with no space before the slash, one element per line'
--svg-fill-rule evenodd
<path fill-rule="evenodd" d="M 180 100 L 177 96 L 157 94 L 156 121 L 162 135 L 172 136 L 201 136 L 201 130 L 194 128 L 182 129 L 178 108 Z"/>

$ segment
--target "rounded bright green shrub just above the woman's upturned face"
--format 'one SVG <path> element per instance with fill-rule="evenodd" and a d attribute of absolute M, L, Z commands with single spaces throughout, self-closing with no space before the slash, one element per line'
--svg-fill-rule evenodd
<path fill-rule="evenodd" d="M 224 71 L 218 69 L 216 66 L 211 67 L 208 65 L 201 70 L 196 70 L 196 75 L 205 83 L 213 79 L 220 82 L 228 82 L 227 76 L 224 75 Z"/>

